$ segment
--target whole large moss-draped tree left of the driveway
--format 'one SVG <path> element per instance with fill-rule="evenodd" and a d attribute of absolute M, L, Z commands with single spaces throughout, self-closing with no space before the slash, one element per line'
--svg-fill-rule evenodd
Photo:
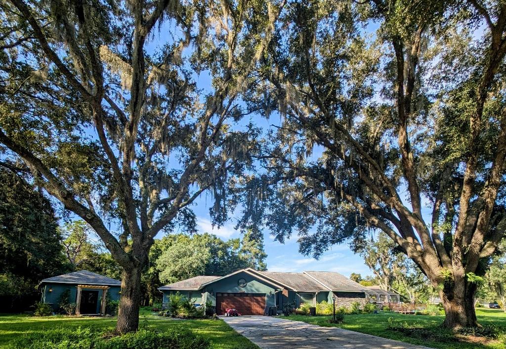
<path fill-rule="evenodd" d="M 258 134 L 233 129 L 249 112 L 238 96 L 278 9 L 263 1 L 0 4 L 9 18 L 0 28 L 0 143 L 121 266 L 119 333 L 138 328 L 154 237 L 191 229 L 189 206 L 205 190 L 214 223 L 227 219 L 226 183 L 251 163 Z M 267 20 L 248 25 L 255 16 Z M 212 75 L 205 92 L 195 81 L 203 71 Z"/>

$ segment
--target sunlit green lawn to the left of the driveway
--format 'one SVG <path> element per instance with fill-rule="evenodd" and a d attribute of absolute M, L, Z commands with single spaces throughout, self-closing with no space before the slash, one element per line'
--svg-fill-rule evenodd
<path fill-rule="evenodd" d="M 31 317 L 20 314 L 0 314 L 0 346 L 17 336 L 41 332 L 56 326 L 70 328 L 94 326 L 104 331 L 114 329 L 115 318 L 87 317 Z M 258 349 L 249 339 L 235 332 L 222 320 L 172 320 L 152 315 L 149 308 L 142 308 L 140 327 L 151 326 L 161 331 L 171 327 L 185 326 L 208 338 L 213 349 Z"/>

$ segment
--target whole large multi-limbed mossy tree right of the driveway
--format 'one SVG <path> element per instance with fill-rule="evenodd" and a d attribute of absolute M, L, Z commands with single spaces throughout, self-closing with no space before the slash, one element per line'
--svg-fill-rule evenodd
<path fill-rule="evenodd" d="M 296 230 L 315 256 L 383 231 L 439 290 L 444 326 L 476 326 L 475 276 L 506 226 L 506 7 L 307 0 L 285 10 L 250 102 L 281 120 L 266 173 L 237 199 L 242 227 L 263 224 L 279 241 Z M 362 29 L 372 23 L 374 41 Z"/>

